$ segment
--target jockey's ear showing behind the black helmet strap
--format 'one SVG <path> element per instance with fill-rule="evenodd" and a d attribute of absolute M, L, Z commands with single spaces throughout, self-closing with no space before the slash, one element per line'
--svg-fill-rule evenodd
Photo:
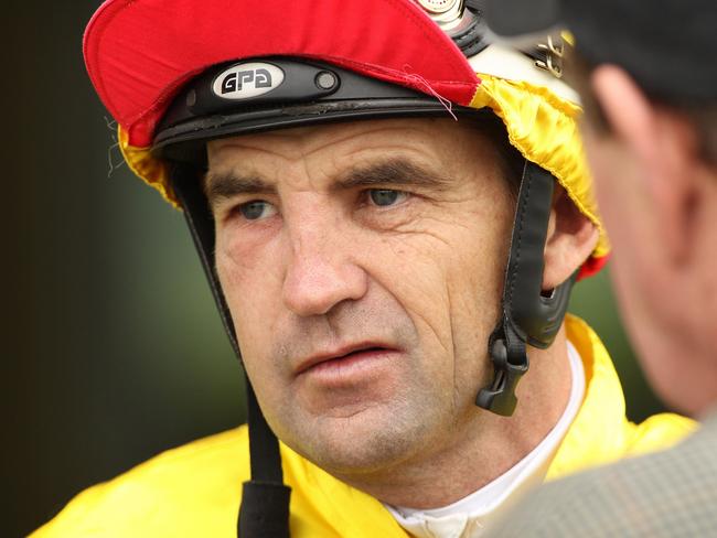
<path fill-rule="evenodd" d="M 590 256 L 598 243 L 598 228 L 556 185 L 545 243 L 543 290 L 565 282 Z"/>

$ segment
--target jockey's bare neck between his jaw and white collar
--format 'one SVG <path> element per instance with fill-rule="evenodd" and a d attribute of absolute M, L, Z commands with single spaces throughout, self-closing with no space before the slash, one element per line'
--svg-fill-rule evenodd
<path fill-rule="evenodd" d="M 491 483 L 537 446 L 568 404 L 571 374 L 565 329 L 548 349 L 529 348 L 528 355 L 531 368 L 518 385 L 512 417 L 471 405 L 452 435 L 427 440 L 435 450 L 388 470 L 336 477 L 386 504 L 417 509 L 449 505 Z"/>

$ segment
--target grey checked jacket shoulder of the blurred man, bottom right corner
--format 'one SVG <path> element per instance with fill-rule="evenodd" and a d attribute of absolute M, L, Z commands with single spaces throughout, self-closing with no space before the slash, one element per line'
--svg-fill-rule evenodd
<path fill-rule="evenodd" d="M 546 484 L 488 536 L 717 536 L 717 413 L 670 450 Z"/>

